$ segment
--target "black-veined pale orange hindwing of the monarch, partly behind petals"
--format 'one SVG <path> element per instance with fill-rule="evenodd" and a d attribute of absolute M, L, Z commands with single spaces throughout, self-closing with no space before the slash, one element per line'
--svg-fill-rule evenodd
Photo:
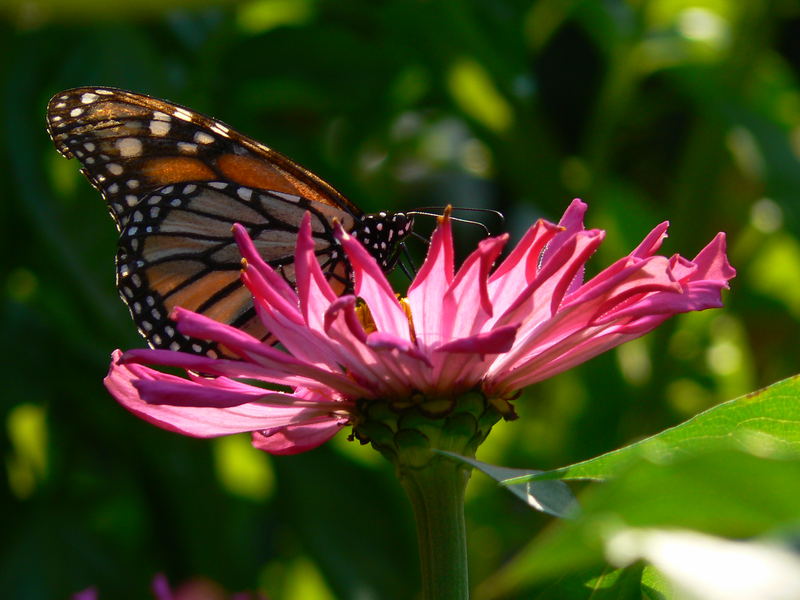
<path fill-rule="evenodd" d="M 353 217 L 299 196 L 212 181 L 170 184 L 145 197 L 130 213 L 117 252 L 117 287 L 140 332 L 151 345 L 213 353 L 208 344 L 177 333 L 165 321 L 175 306 L 200 312 L 265 338 L 249 292 L 239 281 L 241 255 L 231 227 L 247 228 L 261 256 L 294 286 L 294 248 L 308 211 L 322 268 L 339 258 L 331 223 L 353 226 Z M 347 274 L 333 273 L 341 290 Z"/>

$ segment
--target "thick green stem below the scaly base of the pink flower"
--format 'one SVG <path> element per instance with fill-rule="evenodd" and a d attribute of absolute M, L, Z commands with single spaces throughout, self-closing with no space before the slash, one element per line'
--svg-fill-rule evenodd
<path fill-rule="evenodd" d="M 401 467 L 417 522 L 423 600 L 467 600 L 469 575 L 464 491 L 469 470 L 444 456 L 424 467 Z"/>

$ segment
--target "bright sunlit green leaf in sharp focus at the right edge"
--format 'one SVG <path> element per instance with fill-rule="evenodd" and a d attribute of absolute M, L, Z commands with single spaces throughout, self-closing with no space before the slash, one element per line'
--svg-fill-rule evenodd
<path fill-rule="evenodd" d="M 740 448 L 757 456 L 800 456 L 800 376 L 724 402 L 654 436 L 567 467 L 507 480 L 595 479 L 617 475 L 637 459 L 669 463 L 697 452 Z"/>

